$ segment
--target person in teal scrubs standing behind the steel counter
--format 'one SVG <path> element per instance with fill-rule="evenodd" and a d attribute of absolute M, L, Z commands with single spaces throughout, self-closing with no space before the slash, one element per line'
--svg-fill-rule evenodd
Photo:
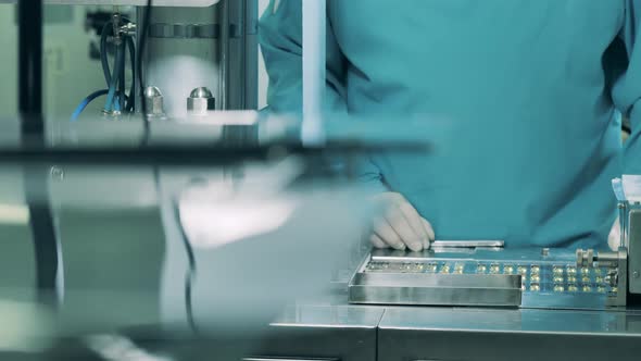
<path fill-rule="evenodd" d="M 329 111 L 433 124 L 433 152 L 364 174 L 375 246 L 607 247 L 611 179 L 641 174 L 641 0 L 328 0 L 327 21 Z M 300 111 L 301 34 L 301 0 L 273 0 L 273 112 Z"/>

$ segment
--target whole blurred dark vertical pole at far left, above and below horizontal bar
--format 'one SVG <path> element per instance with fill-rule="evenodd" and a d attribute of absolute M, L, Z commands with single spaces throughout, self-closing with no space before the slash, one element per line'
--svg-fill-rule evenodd
<path fill-rule="evenodd" d="M 46 146 L 42 114 L 42 0 L 20 0 L 18 13 L 18 110 L 24 147 Z M 36 258 L 39 301 L 58 306 L 62 284 L 61 253 L 49 204 L 49 169 L 40 164 L 24 167 L 25 198 Z"/>

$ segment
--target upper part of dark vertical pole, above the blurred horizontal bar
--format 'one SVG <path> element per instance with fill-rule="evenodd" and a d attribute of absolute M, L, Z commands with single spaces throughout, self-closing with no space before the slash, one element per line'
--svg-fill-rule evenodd
<path fill-rule="evenodd" d="M 20 0 L 18 110 L 23 140 L 42 141 L 42 0 Z"/>

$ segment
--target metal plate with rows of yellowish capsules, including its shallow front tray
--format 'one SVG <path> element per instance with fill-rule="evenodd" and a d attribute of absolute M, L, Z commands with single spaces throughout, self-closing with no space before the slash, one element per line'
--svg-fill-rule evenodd
<path fill-rule="evenodd" d="M 603 310 L 618 291 L 609 271 L 577 267 L 562 249 L 375 250 L 350 283 L 350 301 Z"/>

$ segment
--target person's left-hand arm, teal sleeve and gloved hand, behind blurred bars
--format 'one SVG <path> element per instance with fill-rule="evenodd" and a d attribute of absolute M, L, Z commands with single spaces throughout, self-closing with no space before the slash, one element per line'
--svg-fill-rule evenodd
<path fill-rule="evenodd" d="M 339 0 L 343 1 L 343 0 Z M 349 0 L 345 0 L 349 1 Z M 331 12 L 331 1 L 328 3 Z M 274 113 L 302 112 L 302 1 L 272 0 L 261 17 L 260 41 L 269 74 L 267 103 Z M 345 73 L 348 61 L 336 40 L 331 16 L 327 18 L 327 91 L 326 111 L 347 112 Z M 379 248 L 422 250 L 433 240 L 433 231 L 427 221 L 403 196 L 388 192 L 380 171 L 372 162 L 363 162 L 361 178 L 380 191 L 375 201 L 386 209 L 375 220 L 370 240 Z"/>

